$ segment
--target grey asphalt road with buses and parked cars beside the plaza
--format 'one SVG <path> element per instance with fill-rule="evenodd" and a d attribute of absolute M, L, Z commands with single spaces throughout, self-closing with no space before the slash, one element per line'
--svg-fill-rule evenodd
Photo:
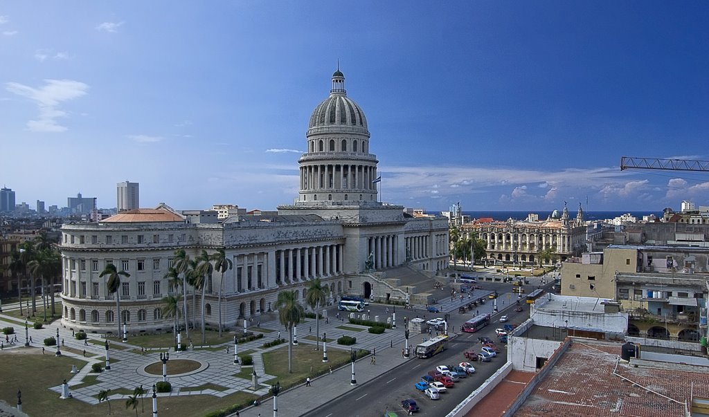
<path fill-rule="evenodd" d="M 485 282 L 486 290 L 497 290 L 500 293 L 510 292 L 512 285 L 502 284 L 501 282 Z M 525 286 L 525 290 L 529 292 L 533 286 Z M 491 300 L 490 300 L 491 301 Z M 515 300 L 516 301 L 516 300 Z M 418 412 L 420 416 L 445 416 L 454 406 L 462 402 L 471 392 L 480 387 L 480 385 L 496 372 L 505 362 L 507 358 L 506 346 L 498 343 L 501 348 L 501 353 L 498 358 L 494 358 L 492 362 L 479 363 L 473 362 L 476 373 L 467 378 L 461 378 L 456 382 L 455 386 L 450 388 L 446 394 L 442 394 L 440 400 L 432 401 L 426 397 L 423 392 L 417 391 L 413 385 L 420 380 L 422 375 L 435 368 L 436 365 L 452 365 L 464 361 L 463 351 L 474 347 L 479 350 L 477 338 L 480 336 L 489 336 L 496 340 L 495 329 L 503 324 L 499 323 L 499 317 L 503 314 L 509 316 L 508 323 L 520 324 L 529 318 L 529 307 L 523 304 L 523 312 L 515 312 L 513 308 L 509 308 L 514 302 L 506 302 L 506 305 L 498 304 L 500 314 L 493 316 L 491 324 L 485 329 L 476 333 L 458 333 L 448 343 L 448 348 L 442 353 L 435 355 L 429 359 L 413 359 L 405 364 L 397 367 L 391 372 L 387 372 L 376 379 L 364 384 L 364 386 L 356 387 L 345 396 L 330 401 L 330 403 L 318 407 L 306 414 L 306 416 L 361 416 L 361 417 L 381 417 L 384 411 L 395 411 L 400 416 L 405 415 L 401 408 L 403 399 L 413 398 L 419 404 L 421 410 Z M 373 312 L 381 306 L 372 304 Z M 503 307 L 506 307 L 503 309 Z M 383 307 L 382 307 L 383 308 Z M 443 316 L 443 314 L 427 313 L 427 319 L 432 316 Z M 450 312 L 450 325 L 455 329 L 460 329 L 463 322 L 469 319 L 471 314 L 459 314 L 456 311 Z M 362 361 L 357 366 L 371 366 L 367 361 Z M 376 366 L 376 365 L 375 365 Z M 343 414 L 343 410 L 347 410 Z"/>

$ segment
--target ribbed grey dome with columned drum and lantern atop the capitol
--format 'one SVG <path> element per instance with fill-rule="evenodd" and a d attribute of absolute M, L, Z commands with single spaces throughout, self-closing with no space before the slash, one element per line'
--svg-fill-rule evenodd
<path fill-rule="evenodd" d="M 376 155 L 369 153 L 367 118 L 347 97 L 345 76 L 333 74 L 330 96 L 311 115 L 308 153 L 298 159 L 300 186 L 296 205 L 317 202 L 377 201 Z"/>

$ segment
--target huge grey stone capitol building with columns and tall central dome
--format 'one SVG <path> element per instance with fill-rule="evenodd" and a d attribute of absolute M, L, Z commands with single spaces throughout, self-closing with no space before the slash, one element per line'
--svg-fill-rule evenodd
<path fill-rule="evenodd" d="M 330 95 L 316 106 L 306 133 L 307 153 L 298 159 L 299 192 L 273 214 L 177 212 L 167 205 L 118 213 L 98 223 L 62 226 L 62 324 L 96 333 L 116 331 L 117 320 L 130 331 L 170 331 L 162 298 L 182 294 L 166 278 L 175 252 L 194 259 L 204 250 L 223 249 L 233 268 L 215 271 L 206 282 L 205 321 L 218 326 L 222 285 L 223 324 L 272 311 L 278 292 L 296 290 L 304 302 L 309 280 L 320 278 L 328 300 L 360 295 L 380 302 L 409 302 L 415 294 L 397 285 L 398 271 L 432 277 L 447 268 L 448 220 L 411 217 L 401 205 L 379 202 L 376 155 L 362 108 L 347 96 L 345 76 L 333 74 Z M 376 142 L 375 142 L 376 144 Z M 108 293 L 108 263 L 121 277 Z M 188 285 L 188 316 L 194 289 Z M 201 305 L 201 290 L 196 291 Z M 413 302 L 413 301 L 412 301 Z"/>

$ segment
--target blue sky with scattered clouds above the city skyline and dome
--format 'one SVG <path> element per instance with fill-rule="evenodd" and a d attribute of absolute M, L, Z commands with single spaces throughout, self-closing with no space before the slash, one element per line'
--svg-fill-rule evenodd
<path fill-rule="evenodd" d="M 3 1 L 0 183 L 18 202 L 116 183 L 177 209 L 274 209 L 337 59 L 386 202 L 430 211 L 709 205 L 700 1 Z"/>

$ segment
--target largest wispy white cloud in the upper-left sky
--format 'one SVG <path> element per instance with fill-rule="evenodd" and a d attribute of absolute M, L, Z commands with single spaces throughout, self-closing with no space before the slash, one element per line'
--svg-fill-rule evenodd
<path fill-rule="evenodd" d="M 5 84 L 7 91 L 34 101 L 40 110 L 38 120 L 30 120 L 27 127 L 32 132 L 64 132 L 67 127 L 58 125 L 58 118 L 65 118 L 67 112 L 57 108 L 63 101 L 84 96 L 89 86 L 73 80 L 45 79 L 45 85 L 32 88 L 23 84 L 9 82 Z"/>

